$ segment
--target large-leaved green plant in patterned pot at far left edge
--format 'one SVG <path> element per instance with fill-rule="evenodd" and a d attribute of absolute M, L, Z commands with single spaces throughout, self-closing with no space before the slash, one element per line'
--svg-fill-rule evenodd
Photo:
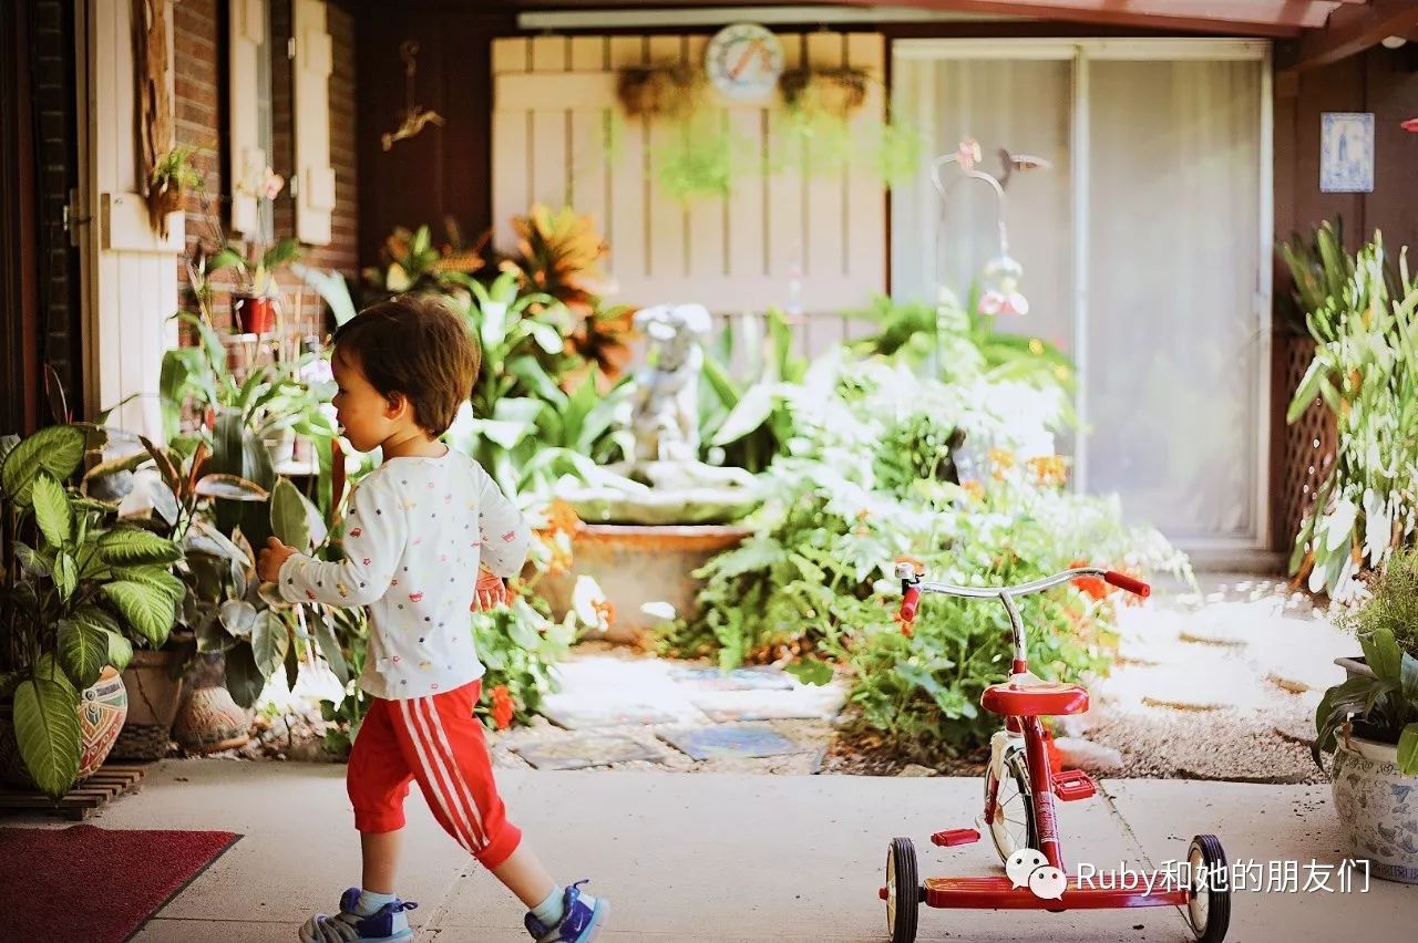
<path fill-rule="evenodd" d="M 183 595 L 170 572 L 183 555 L 177 544 L 119 521 L 115 505 L 71 484 L 91 433 L 102 435 L 62 425 L 0 445 L 9 640 L 0 698 L 17 750 L 7 773 L 23 765 L 55 799 L 98 769 L 118 736 L 129 636 L 160 646 Z"/>

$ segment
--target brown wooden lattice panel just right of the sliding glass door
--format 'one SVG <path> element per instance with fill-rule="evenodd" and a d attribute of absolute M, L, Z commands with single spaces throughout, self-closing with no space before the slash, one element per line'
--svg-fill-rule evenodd
<path fill-rule="evenodd" d="M 1314 360 L 1314 341 L 1309 337 L 1288 337 L 1280 345 L 1285 351 L 1283 408 L 1288 409 L 1290 396 L 1299 389 L 1305 371 Z M 1285 466 L 1280 471 L 1278 505 L 1283 528 L 1280 549 L 1286 554 L 1295 547 L 1295 535 L 1300 532 L 1300 525 L 1314 504 L 1337 447 L 1334 413 L 1316 396 L 1305 413 L 1285 430 Z"/>

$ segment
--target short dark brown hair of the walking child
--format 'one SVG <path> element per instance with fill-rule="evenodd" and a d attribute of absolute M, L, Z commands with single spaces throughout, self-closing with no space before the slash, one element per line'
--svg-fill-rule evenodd
<path fill-rule="evenodd" d="M 357 358 L 374 389 L 408 399 L 414 422 L 435 438 L 472 394 L 482 364 L 476 338 L 435 295 L 370 304 L 335 331 L 333 343 L 336 357 Z"/>

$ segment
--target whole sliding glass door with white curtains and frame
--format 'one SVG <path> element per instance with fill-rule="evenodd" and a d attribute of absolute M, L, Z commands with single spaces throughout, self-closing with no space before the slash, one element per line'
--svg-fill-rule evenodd
<path fill-rule="evenodd" d="M 1031 312 L 998 327 L 1079 365 L 1075 484 L 1191 549 L 1263 545 L 1269 365 L 1268 50 L 1236 41 L 903 41 L 895 106 L 936 154 L 1014 170 Z M 968 193 L 967 193 L 968 190 Z M 994 198 L 929 174 L 892 200 L 892 292 L 968 292 Z"/>

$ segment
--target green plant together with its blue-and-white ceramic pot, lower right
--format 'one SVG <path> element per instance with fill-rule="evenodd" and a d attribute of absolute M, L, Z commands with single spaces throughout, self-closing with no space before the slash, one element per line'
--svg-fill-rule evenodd
<path fill-rule="evenodd" d="M 1395 555 L 1357 629 L 1361 663 L 1324 692 L 1314 714 L 1314 762 L 1333 750 L 1334 807 L 1375 876 L 1418 884 L 1418 623 L 1414 551 Z M 1349 663 L 1350 660 L 1340 660 Z"/>

